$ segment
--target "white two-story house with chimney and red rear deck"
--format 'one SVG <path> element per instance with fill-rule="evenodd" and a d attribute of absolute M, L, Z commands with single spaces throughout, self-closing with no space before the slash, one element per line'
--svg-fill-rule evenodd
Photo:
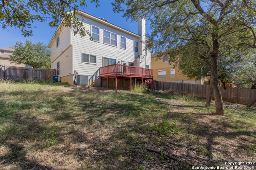
<path fill-rule="evenodd" d="M 51 68 L 57 70 L 60 81 L 81 85 L 84 78 L 91 86 L 116 84 L 120 88 L 137 79 L 152 79 L 151 53 L 145 50 L 145 19 L 138 21 L 136 34 L 81 10 L 76 16 L 94 41 L 59 25 L 48 48 Z"/>

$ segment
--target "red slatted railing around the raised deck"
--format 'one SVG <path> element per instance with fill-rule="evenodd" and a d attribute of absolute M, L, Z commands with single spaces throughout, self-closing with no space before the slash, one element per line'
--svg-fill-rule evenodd
<path fill-rule="evenodd" d="M 100 68 L 100 76 L 111 75 L 153 77 L 153 69 L 122 64 L 112 64 Z"/>

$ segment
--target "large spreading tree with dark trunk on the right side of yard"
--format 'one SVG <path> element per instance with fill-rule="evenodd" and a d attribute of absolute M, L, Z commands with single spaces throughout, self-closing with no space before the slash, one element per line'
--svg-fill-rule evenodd
<path fill-rule="evenodd" d="M 244 1 L 244 0 L 243 0 Z M 211 74 L 211 83 L 214 91 L 216 114 L 224 115 L 222 96 L 218 82 L 218 59 L 220 50 L 228 47 L 222 42 L 227 39 L 238 39 L 238 35 L 244 32 L 244 38 L 239 39 L 240 47 L 248 37 L 248 29 L 242 23 L 237 22 L 236 16 L 243 16 L 242 0 L 115 0 L 112 3 L 114 12 L 126 10 L 124 17 L 132 21 L 146 18 L 151 22 L 152 33 L 150 41 L 154 43 L 155 51 L 178 48 L 180 52 L 184 47 L 196 45 L 196 50 L 201 47 L 207 49 L 207 53 L 198 55 L 204 61 Z M 250 6 L 250 4 L 248 4 Z M 204 8 L 202 6 L 205 6 Z M 251 18 L 246 21 L 253 22 Z M 239 25 L 239 27 L 235 27 Z M 251 26 L 251 25 L 250 25 Z M 240 34 L 239 34 L 240 35 Z M 232 41 L 234 42 L 234 41 Z M 233 48 L 233 46 L 230 46 Z M 176 55 L 178 56 L 178 55 Z M 209 57 L 209 59 L 207 58 Z"/>

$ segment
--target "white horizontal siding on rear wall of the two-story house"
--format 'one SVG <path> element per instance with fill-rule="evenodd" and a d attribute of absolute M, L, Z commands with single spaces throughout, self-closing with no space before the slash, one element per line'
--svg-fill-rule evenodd
<path fill-rule="evenodd" d="M 81 18 L 80 20 L 82 21 Z M 118 63 L 119 61 L 120 64 L 122 63 L 122 61 L 135 63 L 135 57 L 137 57 L 139 53 L 134 53 L 134 41 L 137 41 L 140 46 L 139 38 L 99 23 L 97 21 L 91 20 L 89 18 L 83 18 L 83 21 L 85 29 L 89 31 L 91 31 L 91 25 L 100 28 L 100 42 L 91 41 L 89 39 L 89 36 L 81 38 L 79 34 L 74 35 L 73 33 L 71 33 L 71 44 L 74 47 L 74 69 L 78 70 L 79 74 L 91 76 L 97 74 L 98 69 L 103 66 L 103 57 L 116 59 L 116 62 Z M 104 44 L 104 29 L 106 31 L 117 34 L 117 47 Z M 126 49 L 120 48 L 120 35 L 122 37 L 126 37 Z M 81 53 L 96 55 L 97 64 L 81 63 Z M 151 57 L 149 56 L 148 59 L 150 58 Z"/>

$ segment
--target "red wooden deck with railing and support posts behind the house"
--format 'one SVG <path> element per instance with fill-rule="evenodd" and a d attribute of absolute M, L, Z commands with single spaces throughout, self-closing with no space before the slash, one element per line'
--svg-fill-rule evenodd
<path fill-rule="evenodd" d="M 132 90 L 132 79 L 144 80 L 152 79 L 153 82 L 153 69 L 142 68 L 136 66 L 126 66 L 122 64 L 112 64 L 104 67 L 100 67 L 100 81 L 103 78 L 115 78 L 116 80 L 116 91 L 117 91 L 117 79 L 130 79 L 130 90 Z M 102 86 L 102 83 L 100 83 Z M 107 80 L 108 87 L 108 80 Z M 123 88 L 123 80 L 122 80 Z"/>

